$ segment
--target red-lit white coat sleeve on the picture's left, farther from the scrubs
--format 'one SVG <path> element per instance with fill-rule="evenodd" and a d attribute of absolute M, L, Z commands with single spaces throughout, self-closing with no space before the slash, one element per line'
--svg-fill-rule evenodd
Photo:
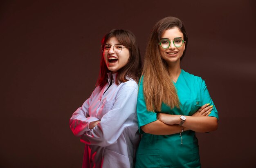
<path fill-rule="evenodd" d="M 90 122 L 99 121 L 98 118 L 90 117 L 89 115 L 89 106 L 97 90 L 99 90 L 99 87 L 95 88 L 90 98 L 87 99 L 83 103 L 83 106 L 79 107 L 70 118 L 70 129 L 72 130 L 75 136 L 81 136 L 86 131 L 89 131 Z"/>

